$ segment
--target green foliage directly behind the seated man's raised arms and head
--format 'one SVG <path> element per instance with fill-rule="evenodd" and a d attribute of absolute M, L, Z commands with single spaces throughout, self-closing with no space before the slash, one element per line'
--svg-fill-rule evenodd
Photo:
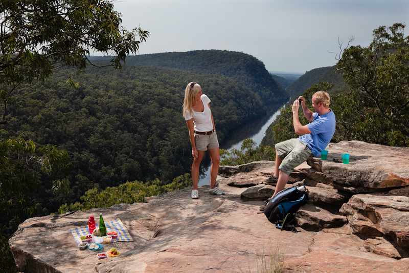
<path fill-rule="evenodd" d="M 333 88 L 333 85 L 331 83 L 323 81 L 320 81 L 317 84 L 313 85 L 311 88 L 309 88 L 303 93 L 303 97 L 305 98 L 305 104 L 307 106 L 312 104 L 311 99 L 312 95 L 315 92 L 328 91 L 331 88 Z M 334 113 L 336 112 L 334 111 Z M 306 125 L 309 123 L 309 121 L 305 118 L 304 112 L 302 111 L 301 107 L 298 112 L 298 117 L 300 119 L 301 124 Z M 264 136 L 261 144 L 273 146 L 287 139 L 298 137 L 299 136 L 294 132 L 294 125 L 292 121 L 292 104 L 290 104 L 287 108 L 280 109 L 280 115 L 277 117 L 276 121 L 271 123 L 271 125 L 267 128 L 266 135 Z"/>

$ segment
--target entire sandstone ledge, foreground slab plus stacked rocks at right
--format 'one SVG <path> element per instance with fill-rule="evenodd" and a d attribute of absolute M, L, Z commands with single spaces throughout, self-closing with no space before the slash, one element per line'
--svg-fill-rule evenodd
<path fill-rule="evenodd" d="M 346 144 L 340 142 L 331 149 L 342 150 Z M 360 143 L 349 144 L 357 149 Z M 373 150 L 379 157 L 378 146 Z M 408 154 L 407 150 L 396 152 Z M 384 178 L 365 176 L 372 182 L 349 175 L 358 172 L 358 167 L 362 170 L 359 160 L 367 160 L 362 164 L 371 167 L 370 158 L 374 156 L 355 158 L 355 164 L 349 166 L 314 159 L 310 166 L 304 164 L 294 172 L 292 182 L 305 178 L 311 197 L 297 214 L 299 233 L 281 232 L 264 214 L 258 214 L 260 199 L 274 191 L 274 186 L 262 185 L 274 165 L 254 162 L 245 167 L 245 173 L 232 171 L 218 178 L 224 196 L 209 195 L 209 186 L 202 186 L 198 200 L 191 199 L 192 188 L 186 188 L 147 198 L 147 203 L 31 218 L 19 225 L 9 242 L 24 272 L 241 272 L 239 267 L 245 272 L 256 264 L 258 255 L 270 254 L 276 247 L 287 272 L 407 272 L 409 230 L 404 228 L 406 220 L 399 221 L 399 212 L 406 215 L 409 202 L 396 193 L 409 180 L 402 169 L 385 169 L 387 164 L 378 171 Z M 404 160 L 400 164 L 409 162 Z M 372 167 L 371 172 L 376 172 Z M 337 172 L 345 174 L 339 181 Z M 241 182 L 229 186 L 234 180 Z M 371 185 L 387 191 L 381 204 L 381 194 L 358 192 L 371 192 Z M 340 207 L 343 215 L 338 212 Z M 99 213 L 106 220 L 120 218 L 134 239 L 104 245 L 105 251 L 111 247 L 121 251 L 116 258 L 98 260 L 93 251 L 79 250 L 70 233 L 70 228 L 86 225 L 89 215 Z M 392 225 L 388 223 L 391 219 L 395 221 Z"/>

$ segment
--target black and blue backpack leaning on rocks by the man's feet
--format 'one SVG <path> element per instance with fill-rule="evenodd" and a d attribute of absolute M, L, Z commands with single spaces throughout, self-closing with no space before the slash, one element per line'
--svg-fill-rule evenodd
<path fill-rule="evenodd" d="M 264 214 L 268 221 L 281 230 L 297 232 L 294 213 L 307 203 L 308 193 L 304 185 L 298 184 L 285 188 L 276 194 L 265 206 Z"/>

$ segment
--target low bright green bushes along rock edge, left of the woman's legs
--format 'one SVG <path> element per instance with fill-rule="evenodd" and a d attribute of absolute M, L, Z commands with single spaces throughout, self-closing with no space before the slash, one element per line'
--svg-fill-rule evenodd
<path fill-rule="evenodd" d="M 147 183 L 140 181 L 126 182 L 117 187 L 107 187 L 104 191 L 99 191 L 98 188 L 88 190 L 84 196 L 81 196 L 82 203 L 63 204 L 58 209 L 58 213 L 62 214 L 70 211 L 86 211 L 96 207 L 110 207 L 115 204 L 133 204 L 135 202 L 143 202 L 145 197 L 162 195 L 168 192 L 182 190 L 183 188 L 193 185 L 190 174 L 181 175 L 173 179 L 172 183 L 163 184 L 156 179 Z"/>

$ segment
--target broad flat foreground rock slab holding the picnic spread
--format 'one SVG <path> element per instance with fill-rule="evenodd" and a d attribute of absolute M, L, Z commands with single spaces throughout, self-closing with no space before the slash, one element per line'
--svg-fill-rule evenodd
<path fill-rule="evenodd" d="M 10 239 L 19 270 L 235 272 L 240 271 L 239 266 L 256 270 L 257 259 L 264 257 L 261 250 L 270 254 L 278 247 L 289 272 L 407 271 L 409 260 L 368 251 L 368 242 L 354 235 L 349 225 L 318 233 L 300 227 L 300 233 L 281 232 L 264 214 L 258 214 L 262 201 L 241 200 L 243 189 L 223 180 L 218 186 L 224 196 L 209 195 L 209 187 L 202 186 L 197 200 L 190 197 L 192 188 L 186 188 L 147 198 L 148 203 L 29 219 Z M 93 251 L 79 250 L 70 233 L 70 228 L 86 225 L 89 215 L 100 212 L 106 220 L 120 218 L 134 239 L 104 245 L 104 251 L 110 247 L 120 250 L 118 257 L 98 260 Z M 323 226 L 328 226 L 326 218 L 320 218 Z"/>

